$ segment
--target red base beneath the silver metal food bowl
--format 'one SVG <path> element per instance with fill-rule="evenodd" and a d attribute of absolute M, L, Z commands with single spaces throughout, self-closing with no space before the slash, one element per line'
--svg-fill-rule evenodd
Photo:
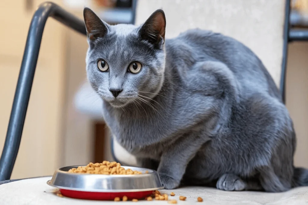
<path fill-rule="evenodd" d="M 72 191 L 67 189 L 60 189 L 63 196 L 75 199 L 89 199 L 89 200 L 114 200 L 115 197 L 127 196 L 128 200 L 145 199 L 152 195 L 153 191 L 138 191 L 138 192 L 89 192 L 89 191 Z"/>

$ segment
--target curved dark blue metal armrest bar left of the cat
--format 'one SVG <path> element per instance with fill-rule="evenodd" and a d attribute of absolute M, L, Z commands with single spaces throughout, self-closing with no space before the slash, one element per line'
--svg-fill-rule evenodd
<path fill-rule="evenodd" d="M 52 2 L 41 4 L 34 13 L 28 32 L 5 144 L 0 159 L 0 181 L 10 179 L 15 164 L 43 30 L 48 17 L 56 19 L 79 33 L 86 34 L 86 29 L 82 20 L 76 18 Z"/>

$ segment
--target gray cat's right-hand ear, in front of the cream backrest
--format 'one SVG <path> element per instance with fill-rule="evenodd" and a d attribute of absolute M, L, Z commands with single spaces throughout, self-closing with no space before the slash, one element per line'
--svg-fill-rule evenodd
<path fill-rule="evenodd" d="M 154 45 L 160 45 L 165 41 L 166 17 L 163 10 L 156 10 L 148 20 L 141 26 L 138 33 L 144 40 Z"/>

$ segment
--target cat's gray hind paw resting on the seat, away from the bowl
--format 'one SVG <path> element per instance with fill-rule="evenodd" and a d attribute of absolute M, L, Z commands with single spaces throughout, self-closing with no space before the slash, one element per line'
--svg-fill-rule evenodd
<path fill-rule="evenodd" d="M 237 175 L 224 174 L 218 179 L 216 188 L 225 191 L 243 191 L 246 183 Z"/>

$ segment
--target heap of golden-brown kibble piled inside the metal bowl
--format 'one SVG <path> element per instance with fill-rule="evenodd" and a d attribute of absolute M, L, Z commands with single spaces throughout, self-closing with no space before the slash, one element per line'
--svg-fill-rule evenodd
<path fill-rule="evenodd" d="M 131 169 L 125 169 L 124 167 L 121 167 L 120 163 L 108 162 L 108 161 L 103 161 L 103 163 L 95 163 L 95 164 L 90 162 L 85 167 L 71 168 L 70 170 L 68 170 L 68 172 L 83 173 L 83 174 L 86 174 L 86 173 L 87 174 L 108 174 L 108 175 L 142 174 L 141 171 L 133 171 Z M 148 172 L 146 172 L 146 173 L 148 173 Z"/>

